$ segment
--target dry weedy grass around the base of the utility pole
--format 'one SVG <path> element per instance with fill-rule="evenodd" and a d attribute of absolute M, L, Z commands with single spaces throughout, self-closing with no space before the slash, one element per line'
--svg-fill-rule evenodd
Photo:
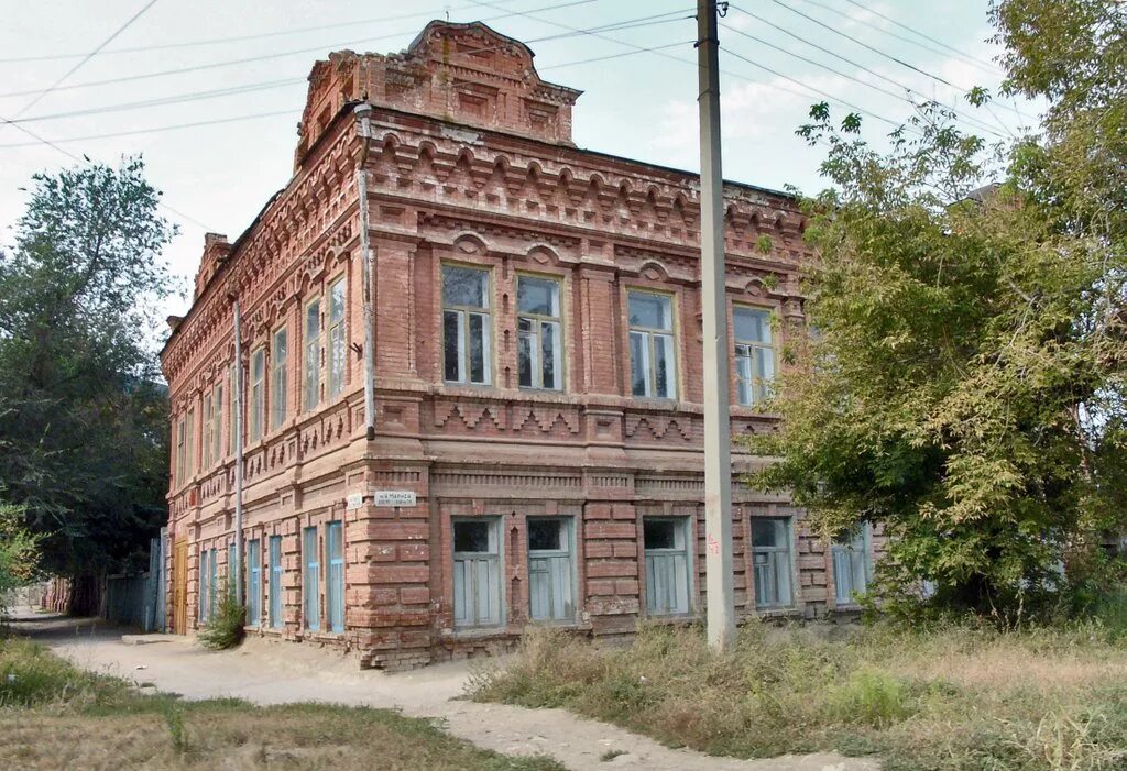
<path fill-rule="evenodd" d="M 624 649 L 530 635 L 474 698 L 567 707 L 674 746 L 772 756 L 876 753 L 893 769 L 1127 769 L 1127 654 L 1098 626 L 1000 634 L 753 624 L 734 652 L 699 629 Z"/>

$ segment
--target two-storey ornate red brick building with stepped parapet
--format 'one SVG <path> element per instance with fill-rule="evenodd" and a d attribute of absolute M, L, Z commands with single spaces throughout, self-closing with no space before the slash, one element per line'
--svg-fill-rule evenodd
<path fill-rule="evenodd" d="M 237 241 L 207 236 L 162 352 L 174 628 L 206 622 L 232 555 L 233 298 L 258 634 L 408 666 L 530 621 L 701 615 L 698 181 L 577 149 L 578 97 L 482 24 L 313 66 L 293 179 Z M 755 402 L 804 334 L 804 222 L 777 191 L 725 196 L 739 437 L 772 430 Z M 740 613 L 863 588 L 867 537 L 831 548 L 784 497 L 733 497 Z"/>

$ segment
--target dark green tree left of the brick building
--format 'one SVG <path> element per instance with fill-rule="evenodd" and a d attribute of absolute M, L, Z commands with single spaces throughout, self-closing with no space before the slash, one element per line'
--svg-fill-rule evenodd
<path fill-rule="evenodd" d="M 118 567 L 166 519 L 167 394 L 157 304 L 175 228 L 140 159 L 36 174 L 0 254 L 0 492 L 45 568 Z"/>

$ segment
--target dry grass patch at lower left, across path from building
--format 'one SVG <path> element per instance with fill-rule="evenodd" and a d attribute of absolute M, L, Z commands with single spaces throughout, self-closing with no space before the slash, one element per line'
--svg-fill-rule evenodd
<path fill-rule="evenodd" d="M 11 676 L 9 676 L 11 675 Z M 560 771 L 479 750 L 391 710 L 144 696 L 0 639 L 0 769 Z"/>

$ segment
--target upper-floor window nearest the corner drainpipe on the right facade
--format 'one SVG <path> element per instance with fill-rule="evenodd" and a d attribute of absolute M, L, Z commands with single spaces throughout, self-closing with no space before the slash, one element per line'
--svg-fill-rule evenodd
<path fill-rule="evenodd" d="M 492 382 L 491 334 L 489 271 L 442 266 L 443 377 L 447 383 Z"/>

